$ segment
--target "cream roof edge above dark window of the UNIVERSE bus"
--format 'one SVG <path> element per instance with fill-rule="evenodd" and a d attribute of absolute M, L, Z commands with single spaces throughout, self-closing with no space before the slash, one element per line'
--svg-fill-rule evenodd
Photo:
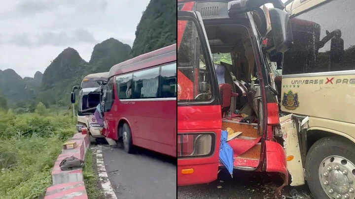
<path fill-rule="evenodd" d="M 285 10 L 290 11 L 290 16 L 294 16 L 308 9 L 311 9 L 325 1 L 329 0 L 293 0 L 286 5 Z"/>

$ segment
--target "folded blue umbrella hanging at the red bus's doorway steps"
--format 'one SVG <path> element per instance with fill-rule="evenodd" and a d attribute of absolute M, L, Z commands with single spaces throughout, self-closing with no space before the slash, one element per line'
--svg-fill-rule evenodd
<path fill-rule="evenodd" d="M 221 140 L 219 146 L 219 161 L 227 168 L 233 178 L 233 149 L 227 142 L 228 132 L 221 132 Z"/>

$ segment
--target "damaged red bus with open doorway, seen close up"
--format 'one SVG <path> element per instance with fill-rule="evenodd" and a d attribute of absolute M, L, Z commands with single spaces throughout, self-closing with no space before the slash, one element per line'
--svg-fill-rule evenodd
<path fill-rule="evenodd" d="M 241 3 L 242 2 L 242 3 Z M 270 9 L 272 31 L 267 15 Z M 292 45 L 281 0 L 178 0 L 178 186 L 209 183 L 221 130 L 233 138 L 233 168 L 280 172 L 288 180 L 269 53 Z M 277 61 L 276 61 L 277 62 Z"/>

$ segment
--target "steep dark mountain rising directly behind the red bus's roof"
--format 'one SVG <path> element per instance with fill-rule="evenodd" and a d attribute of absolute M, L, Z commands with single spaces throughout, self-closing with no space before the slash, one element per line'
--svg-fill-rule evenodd
<path fill-rule="evenodd" d="M 173 0 L 150 0 L 136 30 L 132 57 L 177 42 L 177 3 Z"/>

